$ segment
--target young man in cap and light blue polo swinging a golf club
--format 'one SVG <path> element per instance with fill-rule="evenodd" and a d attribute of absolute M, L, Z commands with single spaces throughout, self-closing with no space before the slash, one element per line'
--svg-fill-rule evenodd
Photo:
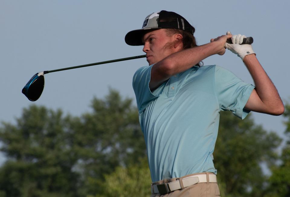
<path fill-rule="evenodd" d="M 280 115 L 284 105 L 245 36 L 227 35 L 196 46 L 195 29 L 182 16 L 160 11 L 140 30 L 127 33 L 132 46 L 144 45 L 149 66 L 133 78 L 140 126 L 147 146 L 152 196 L 218 196 L 212 153 L 219 112 L 245 118 L 250 111 Z M 226 43 L 231 38 L 234 44 Z M 216 65 L 200 66 L 208 56 L 237 54 L 255 87 Z"/>

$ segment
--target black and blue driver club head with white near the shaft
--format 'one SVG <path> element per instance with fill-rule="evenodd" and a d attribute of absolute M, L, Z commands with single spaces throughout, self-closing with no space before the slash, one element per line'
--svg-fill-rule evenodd
<path fill-rule="evenodd" d="M 22 93 L 30 100 L 36 101 L 39 99 L 44 88 L 44 73 L 38 72 L 27 82 L 22 89 Z"/>

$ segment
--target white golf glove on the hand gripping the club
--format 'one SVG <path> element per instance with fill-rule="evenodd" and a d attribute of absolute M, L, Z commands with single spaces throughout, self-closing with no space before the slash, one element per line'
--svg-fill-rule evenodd
<path fill-rule="evenodd" d="M 231 33 L 228 31 L 227 35 L 230 35 Z M 243 39 L 246 38 L 246 36 L 242 36 L 241 34 L 233 35 L 232 36 L 232 42 L 233 44 L 225 43 L 224 46 L 229 49 L 234 54 L 237 54 L 242 60 L 245 56 L 250 54 L 256 54 L 253 51 L 252 45 L 250 44 L 241 44 L 243 42 Z"/>

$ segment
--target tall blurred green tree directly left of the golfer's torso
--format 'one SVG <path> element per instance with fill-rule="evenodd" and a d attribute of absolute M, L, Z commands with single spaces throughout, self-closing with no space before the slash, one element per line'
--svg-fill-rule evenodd
<path fill-rule="evenodd" d="M 138 163 L 146 156 L 138 111 L 132 99 L 122 99 L 117 91 L 101 100 L 92 100 L 92 112 L 71 124 L 78 167 L 85 180 L 83 194 L 100 193 L 104 175 L 116 167 Z"/>

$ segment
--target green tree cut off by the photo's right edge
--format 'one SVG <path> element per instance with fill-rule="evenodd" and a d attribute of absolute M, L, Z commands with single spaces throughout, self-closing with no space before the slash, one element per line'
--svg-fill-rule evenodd
<path fill-rule="evenodd" d="M 288 137 L 286 145 L 282 150 L 280 165 L 272 166 L 272 176 L 269 179 L 269 197 L 288 197 L 290 196 L 290 105 L 285 106 L 283 114 L 286 130 L 285 135 Z"/>

